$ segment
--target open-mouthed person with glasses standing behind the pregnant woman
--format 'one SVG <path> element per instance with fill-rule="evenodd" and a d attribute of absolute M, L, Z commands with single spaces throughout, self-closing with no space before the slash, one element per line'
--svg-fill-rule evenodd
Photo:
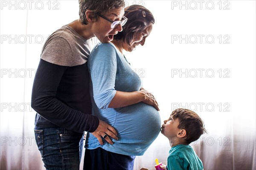
<path fill-rule="evenodd" d="M 79 170 L 84 131 L 99 142 L 105 134 L 117 139 L 112 126 L 91 115 L 87 58 L 92 37 L 108 43 L 122 31 L 124 6 L 123 0 L 79 0 L 80 18 L 44 44 L 31 106 L 37 112 L 35 139 L 47 170 Z M 105 141 L 113 144 L 109 137 Z"/>

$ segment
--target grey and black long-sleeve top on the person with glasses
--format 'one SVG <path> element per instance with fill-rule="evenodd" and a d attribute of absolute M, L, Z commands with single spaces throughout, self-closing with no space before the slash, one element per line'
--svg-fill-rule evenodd
<path fill-rule="evenodd" d="M 91 115 L 87 40 L 63 26 L 42 50 L 32 88 L 31 106 L 38 127 L 64 127 L 93 132 L 99 119 Z"/>

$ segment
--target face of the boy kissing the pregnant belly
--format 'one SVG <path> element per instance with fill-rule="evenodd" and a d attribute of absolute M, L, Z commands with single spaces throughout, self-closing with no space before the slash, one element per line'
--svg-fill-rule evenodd
<path fill-rule="evenodd" d="M 163 121 L 161 133 L 166 136 L 168 139 L 172 139 L 173 137 L 177 137 L 177 134 L 181 129 L 178 128 L 179 119 L 172 119 L 172 115 L 169 119 Z"/>

